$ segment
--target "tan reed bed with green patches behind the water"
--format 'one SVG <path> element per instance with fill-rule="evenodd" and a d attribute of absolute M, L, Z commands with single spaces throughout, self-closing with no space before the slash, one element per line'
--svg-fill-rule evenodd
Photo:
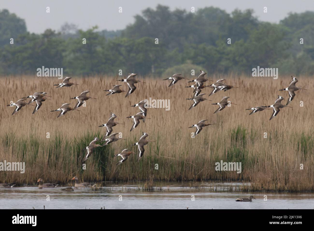
<path fill-rule="evenodd" d="M 279 89 L 287 87 L 290 76 L 271 77 L 224 76 L 212 75 L 216 81 L 225 78 L 228 84 L 239 87 L 227 92 L 218 92 L 205 96 L 213 102 L 204 101 L 192 110 L 188 110 L 192 101 L 192 89 L 185 80 L 180 80 L 168 88 L 169 82 L 162 78 L 138 77 L 146 83 L 137 83 L 133 94 L 105 96 L 103 90 L 119 84 L 117 78 L 97 76 L 89 78 L 74 77 L 69 88 L 55 89 L 53 84 L 60 83 L 57 77 L 2 77 L 0 78 L 0 162 L 25 162 L 25 173 L 16 171 L 0 172 L 0 182 L 33 184 L 38 178 L 44 182 L 68 183 L 77 175 L 84 181 L 147 181 L 147 188 L 153 187 L 152 180 L 165 181 L 245 181 L 250 186 L 243 186 L 244 191 L 314 191 L 314 139 L 313 139 L 313 89 L 314 79 L 299 76 L 298 86 L 308 89 L 296 92 L 295 99 L 289 106 L 269 121 L 270 110 L 248 115 L 245 110 L 253 106 L 271 105 L 277 95 L 288 99 L 288 92 Z M 188 78 L 188 77 L 187 77 Z M 119 78 L 120 79 L 120 78 Z M 190 77 L 190 79 L 192 79 Z M 121 82 L 120 82 L 121 83 Z M 206 82 L 208 83 L 208 82 Z M 127 90 L 127 85 L 122 89 Z M 63 103 L 75 105 L 82 91 L 89 90 L 89 99 L 81 111 L 70 111 L 57 118 L 59 112 L 50 112 Z M 40 110 L 32 115 L 33 106 L 25 106 L 15 115 L 14 107 L 7 107 L 10 101 L 16 102 L 34 92 L 45 91 L 52 100 L 43 102 Z M 202 93 L 210 93 L 205 88 Z M 213 114 L 223 96 L 230 96 L 230 101 L 237 105 L 226 107 Z M 145 123 L 142 121 L 132 132 L 132 119 L 138 108 L 130 107 L 143 99 L 170 99 L 170 110 L 149 108 Z M 300 107 L 300 101 L 304 106 Z M 119 140 L 95 153 L 86 161 L 82 169 L 81 151 L 93 138 L 105 133 L 105 128 L 98 127 L 106 123 L 110 112 L 118 117 L 115 121 L 125 123 L 117 125 L 114 132 L 122 132 L 125 140 Z M 204 127 L 195 138 L 191 138 L 194 128 L 188 128 L 198 121 L 208 119 L 217 123 Z M 46 138 L 47 132 L 50 138 Z M 121 149 L 130 148 L 137 152 L 132 143 L 137 142 L 142 132 L 149 134 L 150 142 L 145 146 L 145 153 L 139 162 L 131 154 L 127 161 L 116 166 L 120 157 L 114 154 Z M 267 138 L 264 138 L 267 132 Z M 216 171 L 215 163 L 241 162 L 241 174 L 236 171 Z M 158 169 L 156 165 L 158 164 Z M 300 170 L 300 164 L 304 169 Z M 144 188 L 146 186 L 143 186 Z"/>

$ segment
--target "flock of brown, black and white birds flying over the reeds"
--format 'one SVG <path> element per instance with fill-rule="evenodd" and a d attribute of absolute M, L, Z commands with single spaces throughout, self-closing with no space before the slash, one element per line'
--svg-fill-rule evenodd
<path fill-rule="evenodd" d="M 204 93 L 201 94 L 201 92 L 202 92 L 202 89 L 204 89 L 204 88 L 207 88 L 207 87 L 212 88 L 212 91 L 208 96 L 211 96 L 211 95 L 213 95 L 219 91 L 227 91 L 227 90 L 230 90 L 232 88 L 238 88 L 238 87 L 234 87 L 234 86 L 226 84 L 224 82 L 225 79 L 219 79 L 216 83 L 213 83 L 211 85 L 204 85 L 204 83 L 206 81 L 213 81 L 213 80 L 209 80 L 208 78 L 206 78 L 205 75 L 206 75 L 206 72 L 201 70 L 198 78 L 193 79 L 191 81 L 188 81 L 188 83 L 195 83 L 194 85 L 186 86 L 187 88 L 193 88 L 194 89 L 192 98 L 187 99 L 187 100 L 193 101 L 193 104 L 190 106 L 189 110 L 196 107 L 200 102 L 203 102 L 205 100 L 212 101 L 212 100 L 203 98 L 203 96 L 205 94 Z M 113 85 L 112 89 L 104 90 L 104 91 L 109 92 L 106 95 L 109 96 L 109 95 L 113 95 L 113 94 L 119 94 L 122 92 L 126 92 L 125 97 L 127 97 L 128 95 L 132 94 L 136 89 L 136 87 L 134 85 L 135 83 L 145 83 L 143 81 L 136 79 L 135 76 L 137 76 L 137 74 L 130 73 L 126 79 L 117 80 L 117 81 L 127 83 L 128 91 L 124 91 L 124 90 L 120 89 L 120 87 L 122 85 Z M 291 80 L 289 86 L 287 88 L 279 90 L 279 91 L 288 91 L 288 93 L 289 93 L 289 99 L 288 99 L 286 105 L 283 105 L 281 103 L 284 98 L 282 96 L 278 95 L 278 98 L 276 99 L 276 101 L 273 105 L 257 106 L 257 107 L 252 107 L 252 108 L 246 109 L 246 110 L 252 110 L 252 112 L 249 115 L 252 115 L 258 111 L 263 111 L 264 109 L 271 109 L 272 108 L 273 113 L 269 119 L 269 120 L 271 120 L 279 113 L 280 108 L 290 107 L 287 105 L 294 99 L 295 91 L 302 89 L 302 88 L 295 86 L 295 84 L 298 82 L 298 80 L 293 76 L 291 76 L 291 78 L 292 78 L 292 80 Z M 54 86 L 57 86 L 56 88 L 62 88 L 62 87 L 71 87 L 72 85 L 78 85 L 76 83 L 71 83 L 69 81 L 70 79 L 71 79 L 71 77 L 66 77 L 62 83 L 54 84 Z M 189 80 L 188 78 L 182 77 L 181 74 L 174 74 L 173 76 L 166 78 L 166 79 L 163 79 L 163 80 L 171 80 L 171 83 L 169 85 L 169 87 L 171 87 L 181 79 Z M 302 90 L 306 90 L 306 89 L 302 89 Z M 83 91 L 79 96 L 71 98 L 71 99 L 77 100 L 77 103 L 74 106 L 74 108 L 70 107 L 69 103 L 65 103 L 65 104 L 62 104 L 62 106 L 60 108 L 58 108 L 56 110 L 52 110 L 51 112 L 60 111 L 60 114 L 57 116 L 57 118 L 58 118 L 64 114 L 66 114 L 68 111 L 78 110 L 78 108 L 80 106 L 82 106 L 84 104 L 84 102 L 86 102 L 88 99 L 96 99 L 96 98 L 92 98 L 90 96 L 87 96 L 87 93 L 89 93 L 89 92 L 90 91 Z M 35 106 L 35 109 L 33 111 L 33 114 L 34 114 L 35 112 L 37 112 L 41 108 L 42 102 L 44 102 L 46 100 L 51 100 L 48 97 L 51 97 L 51 96 L 48 96 L 46 92 L 36 92 L 32 95 L 29 95 L 29 96 L 23 97 L 22 99 L 19 99 L 16 103 L 12 103 L 11 105 L 7 105 L 7 106 L 12 106 L 12 105 L 15 106 L 15 110 L 12 113 L 12 115 L 14 115 L 22 107 L 24 107 L 26 105 L 32 105 L 31 103 L 35 102 L 36 105 L 33 105 L 33 106 Z M 28 98 L 30 98 L 30 101 L 26 102 L 26 99 L 28 99 Z M 230 97 L 228 97 L 228 96 L 224 96 L 224 97 L 222 97 L 220 102 L 212 103 L 212 105 L 219 105 L 219 108 L 217 108 L 217 110 L 215 110 L 214 113 L 222 111 L 223 109 L 225 109 L 226 106 L 228 106 L 230 104 L 236 105 L 235 103 L 228 101 L 229 98 Z M 142 100 L 139 103 L 132 105 L 132 107 L 138 107 L 140 112 L 138 112 L 136 115 L 131 115 L 131 116 L 127 117 L 127 118 L 133 119 L 133 126 L 131 127 L 130 132 L 138 126 L 138 124 L 140 123 L 140 120 L 145 122 L 146 119 L 150 119 L 150 118 L 146 117 L 146 115 L 147 115 L 147 108 L 151 107 L 151 106 L 148 105 L 147 100 Z M 112 142 L 116 142 L 116 141 L 122 139 L 118 136 L 119 133 L 112 133 L 114 126 L 116 126 L 118 124 L 124 125 L 124 123 L 115 122 L 114 119 L 116 117 L 117 116 L 114 113 L 111 113 L 111 116 L 110 116 L 108 122 L 99 126 L 99 127 L 106 127 L 106 133 L 104 134 L 104 136 L 102 137 L 101 140 L 99 140 L 98 137 L 95 137 L 94 140 L 91 141 L 90 144 L 83 149 L 83 150 L 86 150 L 86 155 L 83 158 L 83 162 L 89 158 L 89 156 L 93 153 L 93 150 L 95 148 L 103 147 L 103 146 L 108 145 Z M 206 121 L 208 121 L 208 120 L 201 120 L 197 124 L 194 124 L 194 125 L 190 126 L 189 128 L 196 128 L 195 135 L 197 135 L 199 132 L 202 131 L 203 127 L 213 125 L 210 123 L 206 123 Z M 148 133 L 143 132 L 143 135 L 140 137 L 139 141 L 132 144 L 132 146 L 138 146 L 138 153 L 134 153 L 134 152 L 130 151 L 130 149 L 123 149 L 123 150 L 121 149 L 122 152 L 115 155 L 115 156 L 121 157 L 120 161 L 116 165 L 122 164 L 124 161 L 127 160 L 128 156 L 131 154 L 137 154 L 137 161 L 139 161 L 140 158 L 142 158 L 142 156 L 144 154 L 144 151 L 145 151 L 144 146 L 147 145 L 149 142 L 154 142 L 153 140 L 146 139 L 148 136 L 149 136 Z M 126 139 L 123 139 L 123 140 L 126 140 Z M 99 141 L 100 141 L 100 143 L 103 142 L 103 144 L 101 144 L 101 145 L 97 144 L 97 142 L 99 142 Z"/>

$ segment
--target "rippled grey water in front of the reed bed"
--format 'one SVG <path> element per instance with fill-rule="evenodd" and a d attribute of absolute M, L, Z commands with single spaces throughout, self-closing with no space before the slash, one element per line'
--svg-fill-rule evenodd
<path fill-rule="evenodd" d="M 0 209 L 313 209 L 313 193 L 241 193 L 210 192 L 212 182 L 202 184 L 156 182 L 158 190 L 139 190 L 143 182 L 115 184 L 103 182 L 102 191 L 36 186 L 0 189 Z M 202 185 L 202 187 L 198 187 Z M 226 189 L 230 183 L 214 183 L 216 189 Z M 232 185 L 239 185 L 232 183 Z M 193 187 L 197 186 L 197 187 Z M 161 187 L 162 190 L 159 190 Z M 236 202 L 236 198 L 253 195 L 252 202 Z M 267 201 L 264 201 L 267 195 Z M 47 201 L 49 196 L 50 201 Z M 122 197 L 121 197 L 122 196 Z M 192 201 L 192 196 L 195 200 Z M 120 200 L 119 200 L 120 198 Z M 121 200 L 122 198 L 122 200 Z"/>

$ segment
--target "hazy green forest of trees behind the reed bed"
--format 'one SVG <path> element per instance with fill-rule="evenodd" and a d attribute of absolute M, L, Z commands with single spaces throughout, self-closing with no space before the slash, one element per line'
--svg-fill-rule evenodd
<path fill-rule="evenodd" d="M 68 76 L 115 75 L 119 69 L 158 76 L 191 68 L 250 74 L 257 66 L 314 74 L 311 11 L 290 13 L 279 24 L 259 21 L 251 9 L 229 14 L 214 7 L 191 13 L 158 5 L 134 17 L 124 30 L 100 31 L 95 25 L 84 31 L 66 23 L 59 31 L 34 34 L 24 19 L 0 10 L 0 74 L 35 75 L 42 66 L 62 67 Z"/>

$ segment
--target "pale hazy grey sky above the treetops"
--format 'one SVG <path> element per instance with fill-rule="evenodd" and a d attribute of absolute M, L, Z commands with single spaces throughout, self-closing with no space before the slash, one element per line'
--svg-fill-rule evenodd
<path fill-rule="evenodd" d="M 191 10 L 191 7 L 203 8 L 207 6 L 219 7 L 228 13 L 235 8 L 241 10 L 252 8 L 261 21 L 279 22 L 289 12 L 301 13 L 314 10 L 313 0 L 0 0 L 0 9 L 6 8 L 25 19 L 27 30 L 42 33 L 47 28 L 59 30 L 65 22 L 78 25 L 86 30 L 98 25 L 100 30 L 124 29 L 134 21 L 133 16 L 140 14 L 145 8 L 155 8 L 156 5 L 167 5 L 171 10 L 175 8 Z M 46 13 L 46 7 L 50 13 Z M 268 13 L 263 13 L 263 7 Z M 122 13 L 118 8 L 122 7 Z"/>

